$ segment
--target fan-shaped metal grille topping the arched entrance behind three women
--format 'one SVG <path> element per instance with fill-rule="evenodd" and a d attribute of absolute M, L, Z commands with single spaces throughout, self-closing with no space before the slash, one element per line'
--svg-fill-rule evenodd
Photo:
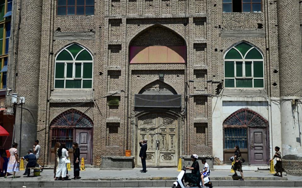
<path fill-rule="evenodd" d="M 92 120 L 84 113 L 75 109 L 67 110 L 57 116 L 51 127 L 59 128 L 89 128 L 93 127 Z"/>

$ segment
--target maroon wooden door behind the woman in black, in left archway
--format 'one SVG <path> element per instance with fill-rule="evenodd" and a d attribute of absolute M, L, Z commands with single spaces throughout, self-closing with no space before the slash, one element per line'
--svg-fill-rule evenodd
<path fill-rule="evenodd" d="M 92 141 L 91 135 L 92 130 L 90 129 L 76 129 L 76 142 L 80 148 L 80 159 L 84 157 L 85 165 L 91 165 L 92 156 Z"/>

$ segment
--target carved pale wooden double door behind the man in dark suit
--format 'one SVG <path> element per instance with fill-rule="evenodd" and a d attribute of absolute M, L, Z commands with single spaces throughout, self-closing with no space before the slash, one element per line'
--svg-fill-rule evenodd
<path fill-rule="evenodd" d="M 138 140 L 148 139 L 147 166 L 177 166 L 177 118 L 153 113 L 138 119 Z M 137 151 L 137 165 L 142 165 Z"/>

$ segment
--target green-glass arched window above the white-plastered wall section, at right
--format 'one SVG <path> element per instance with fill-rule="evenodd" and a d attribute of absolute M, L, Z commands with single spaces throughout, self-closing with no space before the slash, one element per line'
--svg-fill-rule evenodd
<path fill-rule="evenodd" d="M 264 88 L 263 55 L 252 44 L 240 42 L 224 54 L 226 88 Z"/>

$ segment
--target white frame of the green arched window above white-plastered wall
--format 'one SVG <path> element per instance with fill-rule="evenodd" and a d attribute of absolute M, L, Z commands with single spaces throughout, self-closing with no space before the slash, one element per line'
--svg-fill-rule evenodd
<path fill-rule="evenodd" d="M 234 79 L 234 87 L 226 87 L 225 84 L 226 82 L 224 81 L 224 88 L 227 88 L 227 89 L 264 89 L 265 88 L 265 81 L 264 81 L 264 58 L 263 58 L 263 54 L 261 53 L 260 50 L 258 50 L 256 47 L 254 47 L 254 45 L 252 44 L 249 44 L 251 45 L 252 47 L 245 53 L 244 57 L 243 55 L 241 54 L 241 52 L 235 48 L 236 45 L 240 44 L 241 42 L 235 44 L 233 47 L 231 47 L 230 49 L 228 49 L 225 54 L 223 55 L 223 73 L 224 73 L 224 80 L 225 79 Z M 231 49 L 235 49 L 238 51 L 238 53 L 241 55 L 242 59 L 225 59 L 225 56 L 226 54 L 231 50 Z M 245 56 L 249 53 L 249 51 L 253 50 L 253 49 L 256 49 L 260 52 L 261 56 L 262 56 L 262 59 L 245 59 Z M 234 77 L 225 77 L 226 75 L 226 70 L 225 70 L 225 62 L 227 61 L 232 61 L 234 62 Z M 254 61 L 262 61 L 262 68 L 263 68 L 263 77 L 257 77 L 257 78 L 254 78 Z M 236 75 L 236 62 L 242 62 L 242 77 L 237 77 Z M 245 62 L 252 62 L 252 76 L 251 77 L 247 77 L 245 76 Z M 252 79 L 252 87 L 236 87 L 236 79 Z M 254 80 L 257 80 L 257 79 L 263 79 L 263 87 L 254 87 Z"/>

